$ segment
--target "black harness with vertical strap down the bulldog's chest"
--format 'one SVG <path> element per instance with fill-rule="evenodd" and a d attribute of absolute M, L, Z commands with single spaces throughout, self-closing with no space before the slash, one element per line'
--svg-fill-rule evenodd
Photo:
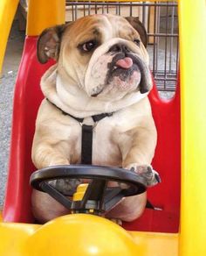
<path fill-rule="evenodd" d="M 46 99 L 49 103 L 52 103 L 49 99 Z M 61 110 L 52 103 L 58 110 Z M 111 113 L 102 113 L 100 115 L 93 115 L 93 125 L 83 124 L 84 118 L 73 117 L 69 113 L 66 113 L 64 110 L 61 110 L 63 115 L 72 117 L 73 119 L 77 120 L 81 125 L 81 164 L 85 165 L 92 165 L 93 163 L 93 128 L 97 125 L 97 123 L 105 118 L 113 116 L 113 112 Z"/>

